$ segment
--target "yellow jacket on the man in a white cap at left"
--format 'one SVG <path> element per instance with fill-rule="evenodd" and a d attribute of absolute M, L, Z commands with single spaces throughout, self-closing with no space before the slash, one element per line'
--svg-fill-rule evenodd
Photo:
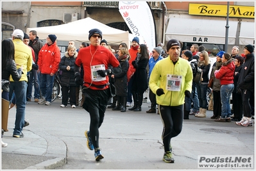
<path fill-rule="evenodd" d="M 15 54 L 14 60 L 17 65 L 17 69 L 21 66 L 23 67 L 21 79 L 19 81 L 28 82 L 27 72 L 32 69 L 32 51 L 28 45 L 25 45 L 21 39 L 12 40 L 14 44 Z M 12 76 L 10 76 L 10 81 L 13 81 Z"/>

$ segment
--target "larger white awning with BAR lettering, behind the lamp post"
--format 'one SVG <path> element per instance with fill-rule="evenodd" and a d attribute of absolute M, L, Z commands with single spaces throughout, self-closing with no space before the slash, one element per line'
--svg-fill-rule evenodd
<path fill-rule="evenodd" d="M 226 19 L 193 15 L 169 15 L 166 41 L 175 38 L 182 42 L 201 44 L 225 44 Z M 228 22 L 228 44 L 235 44 L 237 22 Z"/>

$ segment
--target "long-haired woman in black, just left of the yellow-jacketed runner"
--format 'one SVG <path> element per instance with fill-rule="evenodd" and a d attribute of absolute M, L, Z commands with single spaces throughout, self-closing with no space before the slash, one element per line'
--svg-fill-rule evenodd
<path fill-rule="evenodd" d="M 145 44 L 139 45 L 137 57 L 132 61 L 132 65 L 136 69 L 132 83 L 134 105 L 128 110 L 141 111 L 143 94 L 148 88 L 148 73 L 146 70 L 146 67 L 148 66 L 148 58 L 148 47 Z"/>

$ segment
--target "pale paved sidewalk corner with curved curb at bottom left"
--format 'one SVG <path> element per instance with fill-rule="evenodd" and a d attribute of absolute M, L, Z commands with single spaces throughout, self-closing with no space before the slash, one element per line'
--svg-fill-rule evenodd
<path fill-rule="evenodd" d="M 24 127 L 24 138 L 12 137 L 12 130 L 4 132 L 1 149 L 3 169 L 54 169 L 66 163 L 67 147 L 62 140 L 44 132 L 37 134 Z M 40 134 L 40 135 L 39 135 Z"/>

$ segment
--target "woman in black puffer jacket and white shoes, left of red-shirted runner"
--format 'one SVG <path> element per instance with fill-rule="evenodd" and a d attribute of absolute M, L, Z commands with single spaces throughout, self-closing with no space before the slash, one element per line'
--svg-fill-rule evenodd
<path fill-rule="evenodd" d="M 67 101 L 70 98 L 71 108 L 76 108 L 76 83 L 74 82 L 74 62 L 76 61 L 76 47 L 69 45 L 65 56 L 62 57 L 59 63 L 59 69 L 62 70 L 62 105 L 61 108 L 67 107 Z M 69 94 L 69 97 L 68 97 Z"/>

